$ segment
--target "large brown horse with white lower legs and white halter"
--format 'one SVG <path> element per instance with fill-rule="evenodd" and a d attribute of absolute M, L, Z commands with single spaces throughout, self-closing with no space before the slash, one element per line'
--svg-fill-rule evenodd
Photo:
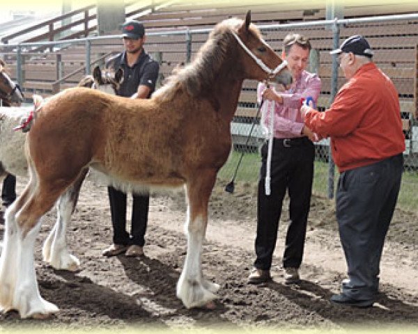
<path fill-rule="evenodd" d="M 256 27 L 227 19 L 215 26 L 195 60 L 150 100 L 70 88 L 42 107 L 26 142 L 30 180 L 6 211 L 0 258 L 0 305 L 21 317 L 47 317 L 56 305 L 39 294 L 33 247 L 40 218 L 94 168 L 120 189 L 185 186 L 187 255 L 177 296 L 187 308 L 216 298 L 203 276 L 202 243 L 217 171 L 231 150 L 230 123 L 242 81 L 280 77 L 286 63 Z M 71 191 L 71 190 L 70 190 Z"/>

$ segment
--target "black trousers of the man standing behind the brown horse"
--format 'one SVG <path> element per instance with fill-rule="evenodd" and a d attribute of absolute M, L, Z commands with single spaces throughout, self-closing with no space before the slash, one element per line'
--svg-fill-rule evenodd
<path fill-rule="evenodd" d="M 132 193 L 132 220 L 131 233 L 126 232 L 126 193 L 107 188 L 109 193 L 111 223 L 114 228 L 114 244 L 144 246 L 146 225 L 148 223 L 149 196 L 136 195 Z"/>

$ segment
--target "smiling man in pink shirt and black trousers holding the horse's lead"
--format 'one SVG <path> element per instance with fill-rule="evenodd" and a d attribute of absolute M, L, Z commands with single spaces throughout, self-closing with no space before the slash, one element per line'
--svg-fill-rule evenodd
<path fill-rule="evenodd" d="M 261 170 L 258 183 L 256 260 L 248 282 L 265 283 L 271 280 L 270 267 L 276 246 L 281 206 L 286 190 L 290 197 L 290 224 L 286 234 L 283 267 L 285 283 L 297 283 L 302 263 L 304 239 L 311 202 L 314 176 L 314 144 L 316 134 L 304 125 L 300 116 L 301 99 L 320 94 L 320 79 L 305 69 L 311 44 L 302 35 L 291 33 L 284 38 L 282 58 L 288 61 L 293 84 L 283 91 L 258 85 L 258 100 L 274 102 L 273 148 L 271 159 L 271 193 L 265 194 L 268 143 L 261 148 Z M 265 109 L 264 109 L 265 110 Z M 270 127 L 270 113 L 263 114 L 266 128 Z"/>

